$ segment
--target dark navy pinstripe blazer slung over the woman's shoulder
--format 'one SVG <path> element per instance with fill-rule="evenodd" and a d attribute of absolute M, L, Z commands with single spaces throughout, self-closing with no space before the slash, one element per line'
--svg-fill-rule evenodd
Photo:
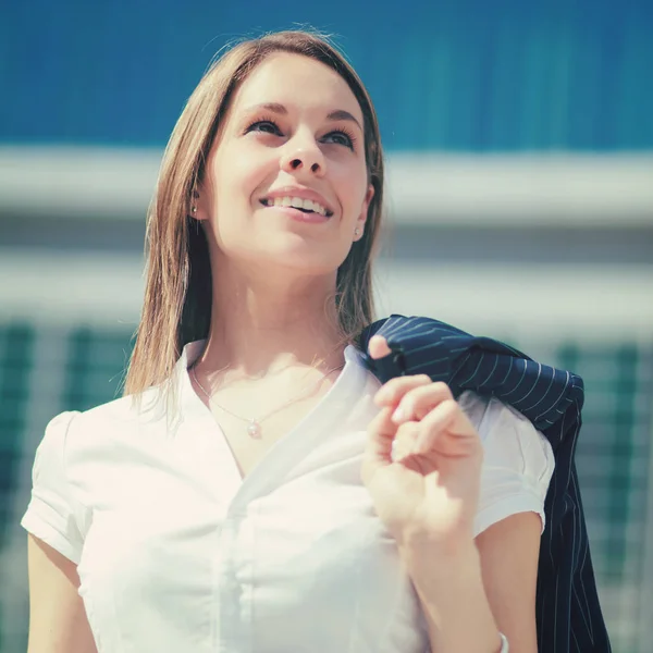
<path fill-rule="evenodd" d="M 475 337 L 428 318 L 392 316 L 360 335 L 385 336 L 393 354 L 366 360 L 385 382 L 427 373 L 458 397 L 491 394 L 510 404 L 551 442 L 555 470 L 546 495 L 546 528 L 538 569 L 537 623 L 540 653 L 606 653 L 611 645 L 596 594 L 574 453 L 581 424 L 582 379 L 535 362 L 488 337 Z"/>

